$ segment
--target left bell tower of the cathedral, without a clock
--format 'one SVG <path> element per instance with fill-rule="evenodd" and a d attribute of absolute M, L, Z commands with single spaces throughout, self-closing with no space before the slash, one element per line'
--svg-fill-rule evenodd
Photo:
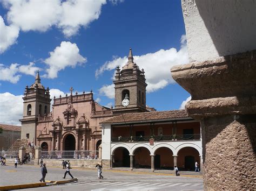
<path fill-rule="evenodd" d="M 23 96 L 23 118 L 22 139 L 28 139 L 36 144 L 37 121 L 40 116 L 47 116 L 50 113 L 50 93 L 49 88 L 44 88 L 41 84 L 39 71 L 37 72 L 35 83 L 30 87 L 26 86 Z"/>

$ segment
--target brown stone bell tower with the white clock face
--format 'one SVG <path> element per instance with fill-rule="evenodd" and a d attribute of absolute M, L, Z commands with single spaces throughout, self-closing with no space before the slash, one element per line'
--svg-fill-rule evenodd
<path fill-rule="evenodd" d="M 127 112 L 145 112 L 146 110 L 146 79 L 144 69 L 140 70 L 133 61 L 130 48 L 128 62 L 120 70 L 116 69 L 114 83 L 115 108 L 113 114 Z"/>

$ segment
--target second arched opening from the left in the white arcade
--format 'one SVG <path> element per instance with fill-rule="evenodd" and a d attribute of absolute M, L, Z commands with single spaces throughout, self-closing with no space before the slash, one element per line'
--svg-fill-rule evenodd
<path fill-rule="evenodd" d="M 134 151 L 135 168 L 151 168 L 150 151 L 145 147 L 138 147 Z"/>

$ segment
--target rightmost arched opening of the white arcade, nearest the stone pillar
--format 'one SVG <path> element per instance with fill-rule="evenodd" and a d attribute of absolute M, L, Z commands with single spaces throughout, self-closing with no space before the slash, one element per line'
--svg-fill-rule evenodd
<path fill-rule="evenodd" d="M 199 152 L 193 147 L 184 147 L 178 151 L 177 166 L 184 171 L 194 171 L 195 162 L 200 164 Z"/>

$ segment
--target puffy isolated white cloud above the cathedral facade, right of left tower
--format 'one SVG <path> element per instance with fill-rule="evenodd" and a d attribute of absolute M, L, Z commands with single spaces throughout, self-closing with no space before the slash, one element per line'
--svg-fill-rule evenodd
<path fill-rule="evenodd" d="M 62 41 L 60 46 L 57 46 L 53 52 L 50 52 L 50 57 L 44 62 L 49 66 L 46 71 L 48 77 L 53 79 L 58 76 L 59 70 L 65 67 L 76 67 L 86 62 L 86 58 L 79 54 L 79 48 L 75 43 Z"/>

